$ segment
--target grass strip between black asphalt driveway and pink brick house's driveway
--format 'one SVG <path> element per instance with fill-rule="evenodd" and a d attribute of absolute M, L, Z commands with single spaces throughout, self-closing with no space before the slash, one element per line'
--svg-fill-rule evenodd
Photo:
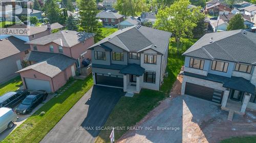
<path fill-rule="evenodd" d="M 77 80 L 63 94 L 45 103 L 2 142 L 39 142 L 92 85 L 92 75 L 85 80 Z M 41 111 L 45 111 L 46 114 L 39 116 Z"/>

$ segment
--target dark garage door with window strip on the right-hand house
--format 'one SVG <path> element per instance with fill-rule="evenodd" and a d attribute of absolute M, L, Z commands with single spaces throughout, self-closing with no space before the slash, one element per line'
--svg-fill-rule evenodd
<path fill-rule="evenodd" d="M 221 103 L 223 91 L 186 82 L 185 94 Z"/>

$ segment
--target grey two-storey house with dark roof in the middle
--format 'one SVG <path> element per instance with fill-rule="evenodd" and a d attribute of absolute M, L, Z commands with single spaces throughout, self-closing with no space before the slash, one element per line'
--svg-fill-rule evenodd
<path fill-rule="evenodd" d="M 172 34 L 141 25 L 119 30 L 89 49 L 94 84 L 139 93 L 159 90 Z"/>

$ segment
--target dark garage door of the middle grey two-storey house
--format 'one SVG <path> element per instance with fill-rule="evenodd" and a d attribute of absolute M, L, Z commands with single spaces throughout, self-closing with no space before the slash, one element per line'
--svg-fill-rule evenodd
<path fill-rule="evenodd" d="M 96 84 L 123 88 L 123 76 L 95 73 Z"/>

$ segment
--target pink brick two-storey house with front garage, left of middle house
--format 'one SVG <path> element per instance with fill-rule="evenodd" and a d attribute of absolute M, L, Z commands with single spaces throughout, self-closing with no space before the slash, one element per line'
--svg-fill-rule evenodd
<path fill-rule="evenodd" d="M 83 60 L 91 59 L 87 48 L 94 44 L 94 34 L 64 30 L 26 44 L 31 51 L 25 60 L 32 65 L 18 71 L 25 89 L 55 92 L 76 75 Z"/>

